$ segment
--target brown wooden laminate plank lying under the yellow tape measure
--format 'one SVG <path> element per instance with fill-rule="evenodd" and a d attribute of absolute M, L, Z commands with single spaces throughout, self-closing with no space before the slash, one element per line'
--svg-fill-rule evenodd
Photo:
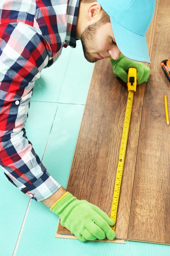
<path fill-rule="evenodd" d="M 147 32 L 150 50 L 154 19 Z M 127 239 L 145 83 L 137 87 L 124 163 L 116 238 Z M 98 61 L 89 87 L 67 191 L 96 204 L 109 216 L 127 103 L 127 87 L 113 75 L 108 59 Z M 57 234 L 70 234 L 60 224 Z"/>

